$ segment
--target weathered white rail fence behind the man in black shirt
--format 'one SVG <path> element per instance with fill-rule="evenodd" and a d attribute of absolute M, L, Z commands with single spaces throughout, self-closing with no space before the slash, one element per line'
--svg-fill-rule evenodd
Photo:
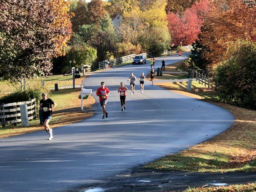
<path fill-rule="evenodd" d="M 0 104 L 0 124 L 2 127 L 5 124 L 14 124 L 21 122 L 20 105 L 27 105 L 28 120 L 36 119 L 36 99 L 23 102 Z"/>

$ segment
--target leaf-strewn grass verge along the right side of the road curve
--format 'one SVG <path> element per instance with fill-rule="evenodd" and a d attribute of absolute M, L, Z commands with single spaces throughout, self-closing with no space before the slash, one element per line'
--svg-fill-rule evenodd
<path fill-rule="evenodd" d="M 196 99 L 204 98 L 201 92 L 209 92 L 206 88 L 187 92 L 186 86 L 179 86 L 178 90 L 176 84 L 155 83 L 157 86 Z M 191 172 L 256 171 L 256 111 L 208 99 L 205 101 L 229 110 L 235 116 L 233 126 L 210 140 L 178 154 L 164 156 L 143 168 Z"/>

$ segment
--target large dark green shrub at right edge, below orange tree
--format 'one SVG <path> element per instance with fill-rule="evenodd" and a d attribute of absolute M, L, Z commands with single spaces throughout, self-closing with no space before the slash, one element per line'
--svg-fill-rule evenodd
<path fill-rule="evenodd" d="M 256 109 L 256 44 L 237 42 L 231 58 L 217 67 L 214 76 L 221 101 Z"/>

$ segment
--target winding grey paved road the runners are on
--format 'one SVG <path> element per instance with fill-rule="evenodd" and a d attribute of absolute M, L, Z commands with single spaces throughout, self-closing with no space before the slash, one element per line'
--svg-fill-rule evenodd
<path fill-rule="evenodd" d="M 179 60 L 177 55 L 158 58 L 156 68 Z M 127 87 L 130 72 L 147 74 L 149 64 L 127 65 L 95 73 L 83 85 L 93 96 L 104 81 L 109 96 L 107 119 L 96 114 L 79 123 L 53 129 L 53 140 L 44 131 L 0 139 L 0 192 L 60 192 L 83 186 L 100 186 L 115 175 L 161 156 L 190 148 L 228 129 L 234 116 L 227 110 L 164 90 L 146 82 L 144 93 L 136 82 L 121 111 L 117 88 Z M 84 100 L 86 102 L 86 100 Z"/>

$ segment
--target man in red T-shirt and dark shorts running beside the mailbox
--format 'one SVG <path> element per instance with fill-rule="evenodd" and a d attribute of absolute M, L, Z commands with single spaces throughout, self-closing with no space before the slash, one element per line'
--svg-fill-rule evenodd
<path fill-rule="evenodd" d="M 108 102 L 108 95 L 110 91 L 108 90 L 107 87 L 105 87 L 105 83 L 101 82 L 100 83 L 100 88 L 97 89 L 96 95 L 100 97 L 100 105 L 103 109 L 103 117 L 102 119 L 108 118 L 108 111 L 106 110 L 106 105 Z"/>

